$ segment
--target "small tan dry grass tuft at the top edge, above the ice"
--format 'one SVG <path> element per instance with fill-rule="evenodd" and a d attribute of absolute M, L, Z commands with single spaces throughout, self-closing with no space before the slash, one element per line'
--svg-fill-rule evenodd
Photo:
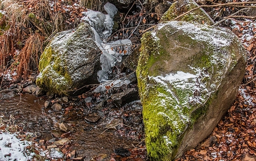
<path fill-rule="evenodd" d="M 102 11 L 105 0 L 80 0 L 80 5 L 94 11 Z"/>

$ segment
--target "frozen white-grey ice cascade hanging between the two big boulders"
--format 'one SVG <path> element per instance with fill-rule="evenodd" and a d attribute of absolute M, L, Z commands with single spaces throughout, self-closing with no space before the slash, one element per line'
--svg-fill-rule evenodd
<path fill-rule="evenodd" d="M 112 72 L 112 67 L 115 66 L 116 62 L 122 61 L 123 55 L 130 54 L 130 47 L 132 46 L 132 42 L 129 39 L 117 40 L 110 43 L 105 42 L 112 33 L 114 25 L 113 17 L 116 14 L 117 9 L 111 3 L 106 3 L 104 9 L 108 14 L 88 10 L 87 12 L 83 12 L 85 17 L 81 18 L 82 20 L 88 21 L 89 25 L 91 25 L 95 36 L 95 42 L 102 52 L 100 57 L 102 69 L 98 71 L 98 80 L 100 83 L 108 81 L 108 74 Z M 129 84 L 127 80 L 126 83 Z M 105 85 L 103 86 L 105 87 Z M 97 90 L 98 92 L 106 90 L 102 87 L 99 87 L 99 89 Z"/>

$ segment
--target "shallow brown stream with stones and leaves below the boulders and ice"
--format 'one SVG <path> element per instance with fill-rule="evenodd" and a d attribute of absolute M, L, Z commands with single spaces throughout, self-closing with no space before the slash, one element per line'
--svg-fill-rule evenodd
<path fill-rule="evenodd" d="M 16 125 L 36 135 L 36 141 L 45 140 L 46 145 L 52 138 L 68 138 L 71 144 L 66 151 L 75 150 L 77 156 L 85 160 L 109 160 L 113 155 L 116 160 L 123 157 L 133 160 L 132 153 L 127 155 L 124 152 L 123 155 L 119 151 L 133 151 L 144 145 L 142 105 L 139 100 L 116 107 L 108 99 L 92 97 L 88 105 L 84 99 L 73 97 L 68 98 L 68 103 L 61 103 L 61 111 L 54 111 L 51 107 L 44 107 L 45 101 L 49 101 L 46 96 L 20 96 L 15 92 L 2 92 L 0 95 L 0 115 L 3 120 L 13 116 Z M 60 98 L 50 101 L 58 100 Z M 72 130 L 68 133 L 61 131 L 59 124 L 62 122 L 70 125 Z M 136 156 L 136 159 L 146 160 L 146 152 L 140 153 L 142 155 Z"/>

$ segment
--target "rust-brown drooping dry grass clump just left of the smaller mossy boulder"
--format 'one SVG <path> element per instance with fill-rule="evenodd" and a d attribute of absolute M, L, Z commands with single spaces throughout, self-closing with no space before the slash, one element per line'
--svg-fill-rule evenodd
<path fill-rule="evenodd" d="M 24 76 L 26 79 L 30 71 L 38 72 L 39 58 L 43 52 L 43 39 L 40 34 L 36 33 L 26 40 L 19 54 L 18 77 Z"/>

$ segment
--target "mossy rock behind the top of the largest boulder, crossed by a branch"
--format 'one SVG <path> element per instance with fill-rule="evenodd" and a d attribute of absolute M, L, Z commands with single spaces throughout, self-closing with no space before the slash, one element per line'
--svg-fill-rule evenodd
<path fill-rule="evenodd" d="M 195 9 L 197 7 L 198 7 L 197 3 L 193 0 L 178 0 L 170 6 L 167 12 L 163 14 L 161 20 L 162 21 L 173 20 L 179 15 L 187 11 L 190 11 L 192 9 Z M 202 8 L 192 11 L 188 14 L 185 14 L 178 20 L 187 21 L 191 23 L 207 24 L 207 25 L 212 25 L 214 23 L 214 21 L 209 16 L 207 16 L 207 13 Z"/>

